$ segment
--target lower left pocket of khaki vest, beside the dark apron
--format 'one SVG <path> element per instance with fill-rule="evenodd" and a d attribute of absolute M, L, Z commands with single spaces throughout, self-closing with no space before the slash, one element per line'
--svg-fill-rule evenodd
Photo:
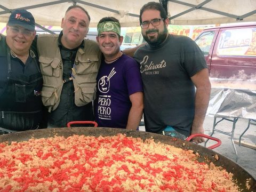
<path fill-rule="evenodd" d="M 42 101 L 44 106 L 53 106 L 55 103 L 57 103 L 58 100 L 58 94 L 57 89 L 52 86 L 43 85 L 42 91 L 41 91 Z"/>

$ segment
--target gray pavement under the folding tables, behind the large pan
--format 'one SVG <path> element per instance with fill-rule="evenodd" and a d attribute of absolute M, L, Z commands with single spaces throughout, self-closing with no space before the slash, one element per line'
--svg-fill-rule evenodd
<path fill-rule="evenodd" d="M 217 118 L 217 121 L 219 121 L 221 118 Z M 204 121 L 204 129 L 205 134 L 210 135 L 212 133 L 212 127 L 213 127 L 213 121 L 214 117 L 206 116 Z M 239 140 L 239 136 L 243 133 L 243 131 L 246 129 L 248 125 L 248 119 L 245 118 L 239 118 L 236 122 L 236 129 L 234 132 L 234 141 Z M 218 130 L 222 130 L 228 133 L 231 133 L 232 131 L 233 122 L 230 121 L 222 121 L 220 122 L 215 128 Z M 139 127 L 140 131 L 145 131 L 145 126 Z M 212 137 L 218 138 L 221 140 L 222 144 L 221 146 L 213 149 L 217 153 L 220 153 L 221 155 L 226 156 L 231 161 L 236 161 L 236 155 L 235 150 L 233 148 L 233 145 L 231 143 L 231 137 L 229 135 L 214 132 Z M 248 143 L 251 146 L 256 146 L 256 126 L 250 125 L 249 129 L 244 133 L 241 141 Z M 206 147 L 210 146 L 211 144 L 215 144 L 215 141 L 209 140 L 206 144 Z M 204 146 L 204 144 L 201 144 Z M 237 150 L 237 163 L 242 166 L 248 173 L 252 175 L 256 179 L 256 150 L 244 147 L 244 146 L 238 146 L 238 144 L 235 144 L 236 150 Z"/>

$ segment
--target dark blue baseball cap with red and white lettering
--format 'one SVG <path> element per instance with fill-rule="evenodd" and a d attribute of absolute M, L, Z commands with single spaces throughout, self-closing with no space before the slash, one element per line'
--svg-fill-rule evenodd
<path fill-rule="evenodd" d="M 35 30 L 35 19 L 27 10 L 15 10 L 9 17 L 9 26 L 21 26 L 30 31 Z"/>

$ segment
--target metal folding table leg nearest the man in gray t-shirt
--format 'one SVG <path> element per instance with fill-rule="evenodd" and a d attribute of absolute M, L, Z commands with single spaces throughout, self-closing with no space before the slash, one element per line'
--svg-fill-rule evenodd
<path fill-rule="evenodd" d="M 221 117 L 221 116 L 218 116 L 218 117 Z M 237 157 L 237 150 L 236 150 L 235 143 L 234 143 L 234 132 L 235 132 L 236 122 L 237 122 L 237 120 L 238 120 L 238 117 L 234 117 L 233 120 L 232 120 L 232 119 L 229 119 L 229 118 L 226 118 L 226 117 L 221 117 L 220 121 L 218 121 L 217 123 L 216 123 L 216 119 L 217 119 L 217 117 L 214 116 L 213 128 L 212 128 L 212 133 L 210 134 L 210 136 L 213 135 L 214 131 L 219 132 L 219 133 L 222 133 L 222 134 L 226 134 L 226 135 L 230 136 L 230 137 L 231 137 L 231 142 L 232 142 L 233 148 L 234 148 L 234 150 L 235 150 L 236 162 L 237 162 L 238 157 Z M 221 130 L 218 130 L 218 129 L 215 128 L 215 126 L 216 126 L 218 123 L 220 123 L 221 121 L 223 121 L 223 120 L 233 122 L 233 126 L 232 126 L 232 131 L 231 131 L 231 133 L 228 133 L 228 132 L 225 132 L 225 131 L 221 131 Z M 207 140 L 205 141 L 204 147 L 206 147 L 207 141 L 209 141 L 209 139 L 207 139 Z"/>

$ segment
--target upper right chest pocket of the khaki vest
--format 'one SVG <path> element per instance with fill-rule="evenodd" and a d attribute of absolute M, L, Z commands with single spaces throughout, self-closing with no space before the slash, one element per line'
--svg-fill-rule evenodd
<path fill-rule="evenodd" d="M 86 56 L 86 59 L 78 56 L 78 61 L 75 61 L 75 69 L 77 74 L 91 74 L 97 73 L 97 63 L 99 61 L 98 55 Z"/>

